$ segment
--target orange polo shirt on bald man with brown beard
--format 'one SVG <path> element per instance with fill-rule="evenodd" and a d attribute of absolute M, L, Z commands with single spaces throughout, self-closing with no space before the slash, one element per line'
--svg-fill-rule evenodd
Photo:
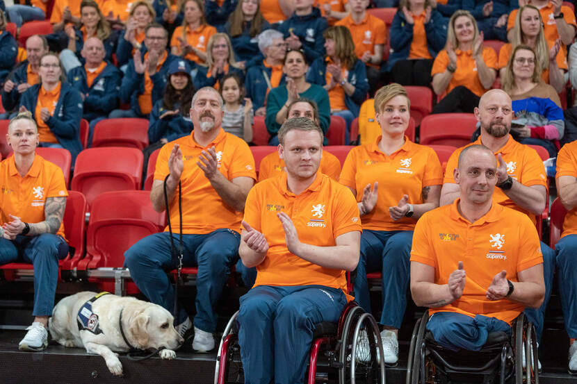
<path fill-rule="evenodd" d="M 459 160 L 459 155 L 461 151 L 473 144 L 482 144 L 481 137 L 479 137 L 476 142 L 467 144 L 464 147 L 457 149 L 450 156 L 447 162 L 447 168 L 445 172 L 445 177 L 443 183 L 455 183 L 455 178 L 453 178 L 453 170 L 457 167 L 457 162 Z M 524 144 L 516 142 L 511 135 L 509 135 L 509 140 L 507 143 L 495 152 L 495 157 L 501 153 L 503 156 L 503 161 L 507 164 L 507 174 L 519 181 L 519 183 L 530 187 L 532 185 L 543 185 L 547 187 L 547 176 L 545 172 L 545 167 L 537 151 L 535 149 L 528 147 Z M 523 210 L 523 208 L 517 206 L 501 188 L 496 187 L 493 192 L 493 200 L 501 204 L 502 206 L 518 210 L 526 214 L 533 224 L 537 221 L 533 213 Z"/>

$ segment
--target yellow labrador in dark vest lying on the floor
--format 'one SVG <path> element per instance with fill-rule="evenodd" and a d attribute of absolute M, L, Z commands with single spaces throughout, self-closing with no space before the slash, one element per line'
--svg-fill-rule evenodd
<path fill-rule="evenodd" d="M 177 356 L 174 350 L 184 339 L 172 321 L 168 310 L 134 297 L 79 292 L 60 300 L 48 328 L 59 344 L 97 353 L 112 374 L 121 376 L 122 364 L 114 352 L 165 348 L 161 358 Z"/>

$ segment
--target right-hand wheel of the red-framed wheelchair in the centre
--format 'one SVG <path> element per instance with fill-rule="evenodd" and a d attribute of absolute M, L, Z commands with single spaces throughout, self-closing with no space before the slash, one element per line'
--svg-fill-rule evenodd
<path fill-rule="evenodd" d="M 384 384 L 384 360 L 377 322 L 361 308 L 346 319 L 341 335 L 340 384 Z"/>

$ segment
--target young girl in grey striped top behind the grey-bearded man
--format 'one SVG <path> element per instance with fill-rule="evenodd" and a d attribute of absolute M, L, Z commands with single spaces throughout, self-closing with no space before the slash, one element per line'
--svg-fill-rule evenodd
<path fill-rule="evenodd" d="M 245 98 L 245 87 L 241 76 L 234 73 L 225 74 L 220 82 L 219 90 L 224 101 L 222 129 L 241 137 L 245 142 L 252 142 L 252 101 Z"/>

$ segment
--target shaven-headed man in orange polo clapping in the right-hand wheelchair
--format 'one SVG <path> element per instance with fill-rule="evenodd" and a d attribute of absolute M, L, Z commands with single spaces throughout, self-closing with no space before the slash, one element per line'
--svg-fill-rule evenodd
<path fill-rule="evenodd" d="M 493 118 L 484 101 L 483 126 Z M 425 213 L 414 229 L 412 297 L 430 308 L 426 328 L 451 351 L 478 351 L 491 332 L 511 336 L 512 321 L 543 302 L 539 236 L 526 215 L 492 199 L 498 167 L 492 149 L 464 149 L 451 171 L 460 198 Z"/>

